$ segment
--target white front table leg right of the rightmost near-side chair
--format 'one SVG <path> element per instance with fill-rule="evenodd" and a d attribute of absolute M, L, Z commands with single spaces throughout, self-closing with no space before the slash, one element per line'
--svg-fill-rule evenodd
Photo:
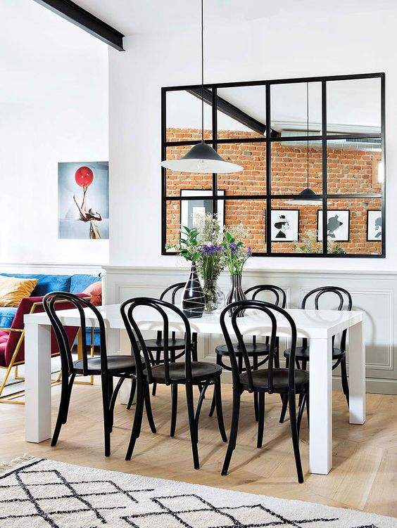
<path fill-rule="evenodd" d="M 332 469 L 332 338 L 310 339 L 311 473 Z"/>

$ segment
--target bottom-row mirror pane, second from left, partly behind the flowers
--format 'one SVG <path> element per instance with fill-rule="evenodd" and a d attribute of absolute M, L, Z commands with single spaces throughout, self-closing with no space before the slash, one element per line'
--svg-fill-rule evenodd
<path fill-rule="evenodd" d="M 266 252 L 265 200 L 218 200 L 218 217 L 224 218 L 227 229 L 242 224 L 241 240 L 246 247 L 251 247 L 253 252 Z"/>

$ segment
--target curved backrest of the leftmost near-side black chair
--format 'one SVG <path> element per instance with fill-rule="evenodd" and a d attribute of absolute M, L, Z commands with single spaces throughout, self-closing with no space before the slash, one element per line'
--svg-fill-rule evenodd
<path fill-rule="evenodd" d="M 82 370 L 83 375 L 88 375 L 88 358 L 90 356 L 90 347 L 87 347 L 87 337 L 86 337 L 86 316 L 87 311 L 84 309 L 89 309 L 92 311 L 98 324 L 95 323 L 96 327 L 99 327 L 99 337 L 100 337 L 100 353 L 101 353 L 101 371 L 107 373 L 108 371 L 108 356 L 106 353 L 106 330 L 105 323 L 101 316 L 100 311 L 94 307 L 94 304 L 91 304 L 87 299 L 78 297 L 73 293 L 69 292 L 51 292 L 44 295 L 43 306 L 46 314 L 49 316 L 51 321 L 51 326 L 55 334 L 56 340 L 58 342 L 59 352 L 61 353 L 61 367 L 63 373 L 68 373 L 69 375 L 75 373 L 75 367 L 73 366 L 73 356 L 72 350 L 68 341 L 68 335 L 65 331 L 65 327 L 61 323 L 59 316 L 62 316 L 62 311 L 56 311 L 56 302 L 59 301 L 68 301 L 70 304 L 75 307 L 80 316 L 80 330 L 82 335 Z M 72 308 L 72 307 L 70 307 Z M 77 325 L 76 325 L 77 326 Z M 72 344 L 73 347 L 73 344 Z"/>

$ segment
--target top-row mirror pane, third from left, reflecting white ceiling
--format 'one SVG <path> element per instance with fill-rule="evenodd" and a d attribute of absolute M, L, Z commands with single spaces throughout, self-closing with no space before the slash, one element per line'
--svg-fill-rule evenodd
<path fill-rule="evenodd" d="M 296 82 L 272 84 L 270 86 L 270 120 L 272 129 L 281 136 L 307 135 L 317 136 L 322 133 L 321 82 Z M 307 115 L 309 102 L 309 120 Z M 308 124 L 309 121 L 309 124 Z"/>

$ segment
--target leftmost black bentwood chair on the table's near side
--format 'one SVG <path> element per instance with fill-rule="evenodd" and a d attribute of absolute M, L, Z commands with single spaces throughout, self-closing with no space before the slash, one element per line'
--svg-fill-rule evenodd
<path fill-rule="evenodd" d="M 59 316 L 61 311 L 55 311 L 56 302 L 60 300 L 67 300 L 70 304 L 79 311 L 80 314 L 80 328 L 82 328 L 82 359 L 78 361 L 73 360 L 72 351 L 68 343 L 68 338 L 65 333 L 65 328 L 61 323 Z M 72 393 L 73 381 L 77 374 L 84 376 L 100 375 L 102 386 L 102 403 L 103 403 L 103 426 L 105 432 L 105 456 L 111 454 L 111 432 L 113 430 L 113 411 L 115 400 L 118 392 L 125 378 L 134 378 L 135 362 L 132 355 L 130 356 L 108 356 L 106 351 L 106 333 L 105 324 L 101 313 L 89 301 L 77 297 L 73 293 L 68 292 L 52 292 L 45 295 L 43 299 L 44 309 L 49 316 L 56 340 L 58 342 L 59 351 L 61 353 L 61 373 L 62 373 L 62 388 L 61 388 L 61 403 L 59 405 L 58 418 L 56 420 L 55 430 L 51 440 L 51 446 L 55 446 L 58 441 L 61 427 L 68 420 L 68 409 L 70 403 L 70 395 Z M 99 337 L 100 337 L 100 355 L 91 357 L 89 354 L 89 347 L 87 347 L 86 340 L 86 314 L 84 309 L 89 309 L 93 312 L 98 320 Z M 113 389 L 113 378 L 119 378 L 115 389 Z M 146 411 L 148 413 L 149 422 L 153 432 L 156 432 L 154 427 L 153 417 L 151 416 L 150 399 L 146 400 Z"/>

